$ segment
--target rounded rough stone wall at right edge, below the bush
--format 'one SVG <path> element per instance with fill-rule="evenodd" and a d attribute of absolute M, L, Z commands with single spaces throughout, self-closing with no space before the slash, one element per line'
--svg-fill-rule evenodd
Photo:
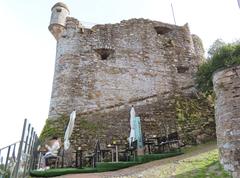
<path fill-rule="evenodd" d="M 240 177 L 240 66 L 213 75 L 215 118 L 220 161 L 234 178 Z"/>

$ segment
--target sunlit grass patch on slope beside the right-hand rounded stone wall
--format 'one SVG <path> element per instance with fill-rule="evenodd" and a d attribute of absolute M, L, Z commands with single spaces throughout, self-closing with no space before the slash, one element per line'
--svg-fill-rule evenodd
<path fill-rule="evenodd" d="M 187 151 L 192 152 L 194 150 L 195 148 L 191 148 Z M 143 173 L 143 177 L 231 178 L 224 171 L 218 159 L 218 150 L 213 149 L 179 161 L 160 165 L 154 170 L 147 170 Z"/>

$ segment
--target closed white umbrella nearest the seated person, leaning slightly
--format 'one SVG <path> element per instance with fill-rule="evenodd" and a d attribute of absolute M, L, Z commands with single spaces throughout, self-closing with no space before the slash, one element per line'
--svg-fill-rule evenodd
<path fill-rule="evenodd" d="M 65 135 L 64 135 L 64 150 L 67 150 L 70 147 L 69 138 L 71 137 L 72 132 L 73 132 L 75 118 L 76 118 L 76 111 L 73 111 L 70 114 L 70 120 L 68 122 L 68 126 L 67 126 L 67 129 L 65 131 Z"/>

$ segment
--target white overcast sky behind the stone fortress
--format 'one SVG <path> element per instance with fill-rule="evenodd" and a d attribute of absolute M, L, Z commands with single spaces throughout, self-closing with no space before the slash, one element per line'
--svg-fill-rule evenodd
<path fill-rule="evenodd" d="M 55 0 L 0 0 L 0 148 L 20 139 L 24 118 L 39 134 L 48 114 L 56 41 L 48 32 Z M 83 24 L 147 18 L 189 23 L 205 49 L 240 38 L 237 0 L 65 0 Z"/>

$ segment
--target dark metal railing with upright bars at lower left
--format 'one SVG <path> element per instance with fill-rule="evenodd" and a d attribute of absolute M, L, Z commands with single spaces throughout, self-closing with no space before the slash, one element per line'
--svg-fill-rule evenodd
<path fill-rule="evenodd" d="M 24 120 L 21 140 L 0 148 L 0 178 L 25 178 L 35 166 L 33 153 L 38 136 L 27 119 Z"/>

